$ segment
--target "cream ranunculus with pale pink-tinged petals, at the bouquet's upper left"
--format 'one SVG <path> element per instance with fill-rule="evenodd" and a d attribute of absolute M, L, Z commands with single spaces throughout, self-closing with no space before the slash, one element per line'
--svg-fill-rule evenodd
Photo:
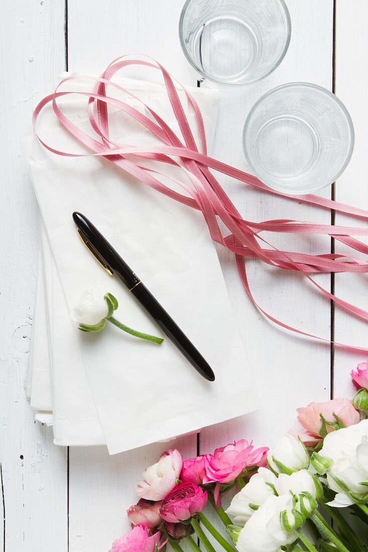
<path fill-rule="evenodd" d="M 143 474 L 144 481 L 138 482 L 135 491 L 140 498 L 159 501 L 174 489 L 180 476 L 183 460 L 178 450 L 167 450 L 160 460 Z"/>

